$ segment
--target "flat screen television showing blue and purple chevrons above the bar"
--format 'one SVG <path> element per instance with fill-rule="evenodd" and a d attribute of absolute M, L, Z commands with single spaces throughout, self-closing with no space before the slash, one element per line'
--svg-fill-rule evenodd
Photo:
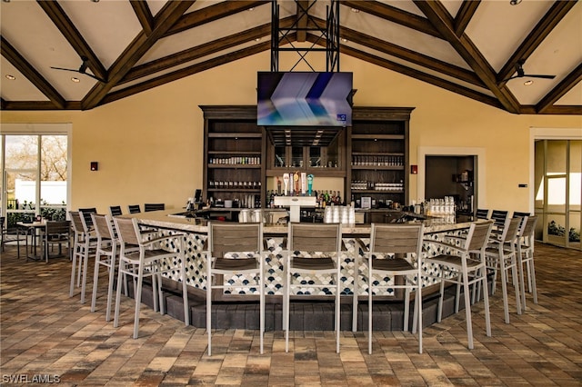
<path fill-rule="evenodd" d="M 256 124 L 350 126 L 352 88 L 352 73 L 259 72 Z"/>

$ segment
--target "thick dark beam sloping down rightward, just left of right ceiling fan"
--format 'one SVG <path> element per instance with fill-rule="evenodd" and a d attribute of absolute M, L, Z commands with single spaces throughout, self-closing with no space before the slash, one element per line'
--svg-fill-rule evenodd
<path fill-rule="evenodd" d="M 497 85 L 497 74 L 489 65 L 487 59 L 471 42 L 467 34 L 461 36 L 455 34 L 453 18 L 445 6 L 434 0 L 414 0 L 414 3 L 455 51 L 461 55 L 483 83 L 487 85 L 487 88 L 497 97 L 499 102 L 505 106 L 507 112 L 518 114 L 520 105 L 516 97 L 509 92 L 507 87 L 499 87 Z"/>

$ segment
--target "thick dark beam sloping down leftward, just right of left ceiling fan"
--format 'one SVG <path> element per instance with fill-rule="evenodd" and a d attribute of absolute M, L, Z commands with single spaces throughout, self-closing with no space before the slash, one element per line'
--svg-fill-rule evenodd
<path fill-rule="evenodd" d="M 107 93 L 119 81 L 123 79 L 137 61 L 146 54 L 147 50 L 156 44 L 157 40 L 166 34 L 166 31 L 176 23 L 180 16 L 193 5 L 195 0 L 170 1 L 158 12 L 155 27 L 152 33 L 146 35 L 144 31 L 139 33 L 125 51 L 119 55 L 115 63 L 111 65 L 110 77 L 106 83 L 97 83 L 91 91 L 85 95 L 81 102 L 83 109 L 92 109 L 98 105 Z"/>

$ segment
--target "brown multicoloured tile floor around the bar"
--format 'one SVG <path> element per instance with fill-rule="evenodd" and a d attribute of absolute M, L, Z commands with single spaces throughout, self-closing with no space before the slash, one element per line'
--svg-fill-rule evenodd
<path fill-rule="evenodd" d="M 2 385 L 582 385 L 582 253 L 537 244 L 539 303 L 503 322 L 498 290 L 492 297 L 493 336 L 485 335 L 482 303 L 474 313 L 475 349 L 467 349 L 464 313 L 424 330 L 424 353 L 410 332 L 375 332 L 367 354 L 363 332 L 294 332 L 285 352 L 283 332 L 206 331 L 142 308 L 140 337 L 132 339 L 133 300 L 124 297 L 121 326 L 68 297 L 70 263 L 18 260 L 14 247 L 0 267 L 0 377 Z M 104 283 L 105 282 L 101 282 Z M 100 284 L 101 284 L 100 283 Z M 91 289 L 91 286 L 88 286 Z M 101 293 L 102 295 L 104 293 Z M 510 296 L 511 297 L 511 296 Z M 513 299 L 510 298 L 510 304 Z M 513 303 L 515 304 L 515 303 Z"/>

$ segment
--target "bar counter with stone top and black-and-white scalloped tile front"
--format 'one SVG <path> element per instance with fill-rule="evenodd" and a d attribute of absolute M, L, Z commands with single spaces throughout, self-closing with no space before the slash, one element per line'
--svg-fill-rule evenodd
<path fill-rule="evenodd" d="M 160 229 L 161 233 L 171 234 L 176 232 L 186 233 L 185 246 L 186 246 L 186 282 L 192 287 L 194 293 L 206 292 L 206 236 L 207 236 L 207 220 L 200 218 L 186 218 L 183 216 L 176 216 L 176 209 L 165 210 L 165 211 L 155 211 L 149 213 L 135 213 L 126 214 L 123 216 L 135 217 L 138 219 L 140 224 L 146 226 L 153 226 Z M 441 219 L 426 220 L 425 222 L 425 239 L 435 239 L 441 238 L 442 233 L 452 233 L 460 232 L 467 229 L 470 223 L 443 223 Z M 287 227 L 285 224 L 265 224 L 265 253 L 266 253 L 266 294 L 267 295 L 282 295 L 282 287 L 284 283 L 284 272 L 283 263 L 285 259 L 285 241 L 287 234 Z M 354 289 L 354 276 L 355 276 L 355 257 L 356 254 L 363 255 L 364 249 L 369 243 L 369 224 L 356 224 L 356 225 L 346 225 L 342 227 L 342 242 L 343 242 L 343 252 L 340 258 L 341 260 L 341 281 L 342 281 L 342 294 L 351 295 Z M 167 243 L 163 248 L 168 250 L 176 250 L 179 243 Z M 442 250 L 437 248 L 432 243 L 425 243 L 425 251 L 428 255 L 433 255 L 441 253 Z M 166 263 L 168 266 L 177 267 L 176 263 Z M 435 267 L 425 267 L 425 270 L 434 273 L 437 268 Z M 179 281 L 179 273 L 170 274 L 169 278 L 174 281 Z M 314 278 L 298 278 L 297 281 L 304 281 L 306 286 L 296 290 L 296 293 L 300 292 L 302 294 L 309 294 L 312 296 L 326 297 L 333 295 L 333 286 L 329 289 L 318 289 L 309 286 L 309 283 L 330 283 L 331 277 L 318 275 Z M 390 284 L 393 281 L 392 278 L 381 279 L 381 284 Z M 433 284 L 433 282 L 427 282 L 432 280 L 425 280 L 425 286 Z M 241 288 L 239 284 L 246 282 L 254 282 L 253 278 L 246 278 L 244 275 L 225 277 L 225 283 L 229 283 L 231 286 L 222 295 L 217 295 L 218 299 L 223 300 L 235 300 L 235 299 L 245 299 L 249 295 L 256 296 L 258 294 L 258 289 L 254 293 L 247 293 L 244 288 Z M 358 294 L 367 294 L 367 284 L 362 285 L 362 281 L 359 281 L 360 286 L 358 286 Z M 375 294 L 376 291 L 375 291 Z M 394 292 L 388 289 L 385 293 L 380 293 L 377 295 L 384 295 L 387 297 L 394 297 Z"/>

